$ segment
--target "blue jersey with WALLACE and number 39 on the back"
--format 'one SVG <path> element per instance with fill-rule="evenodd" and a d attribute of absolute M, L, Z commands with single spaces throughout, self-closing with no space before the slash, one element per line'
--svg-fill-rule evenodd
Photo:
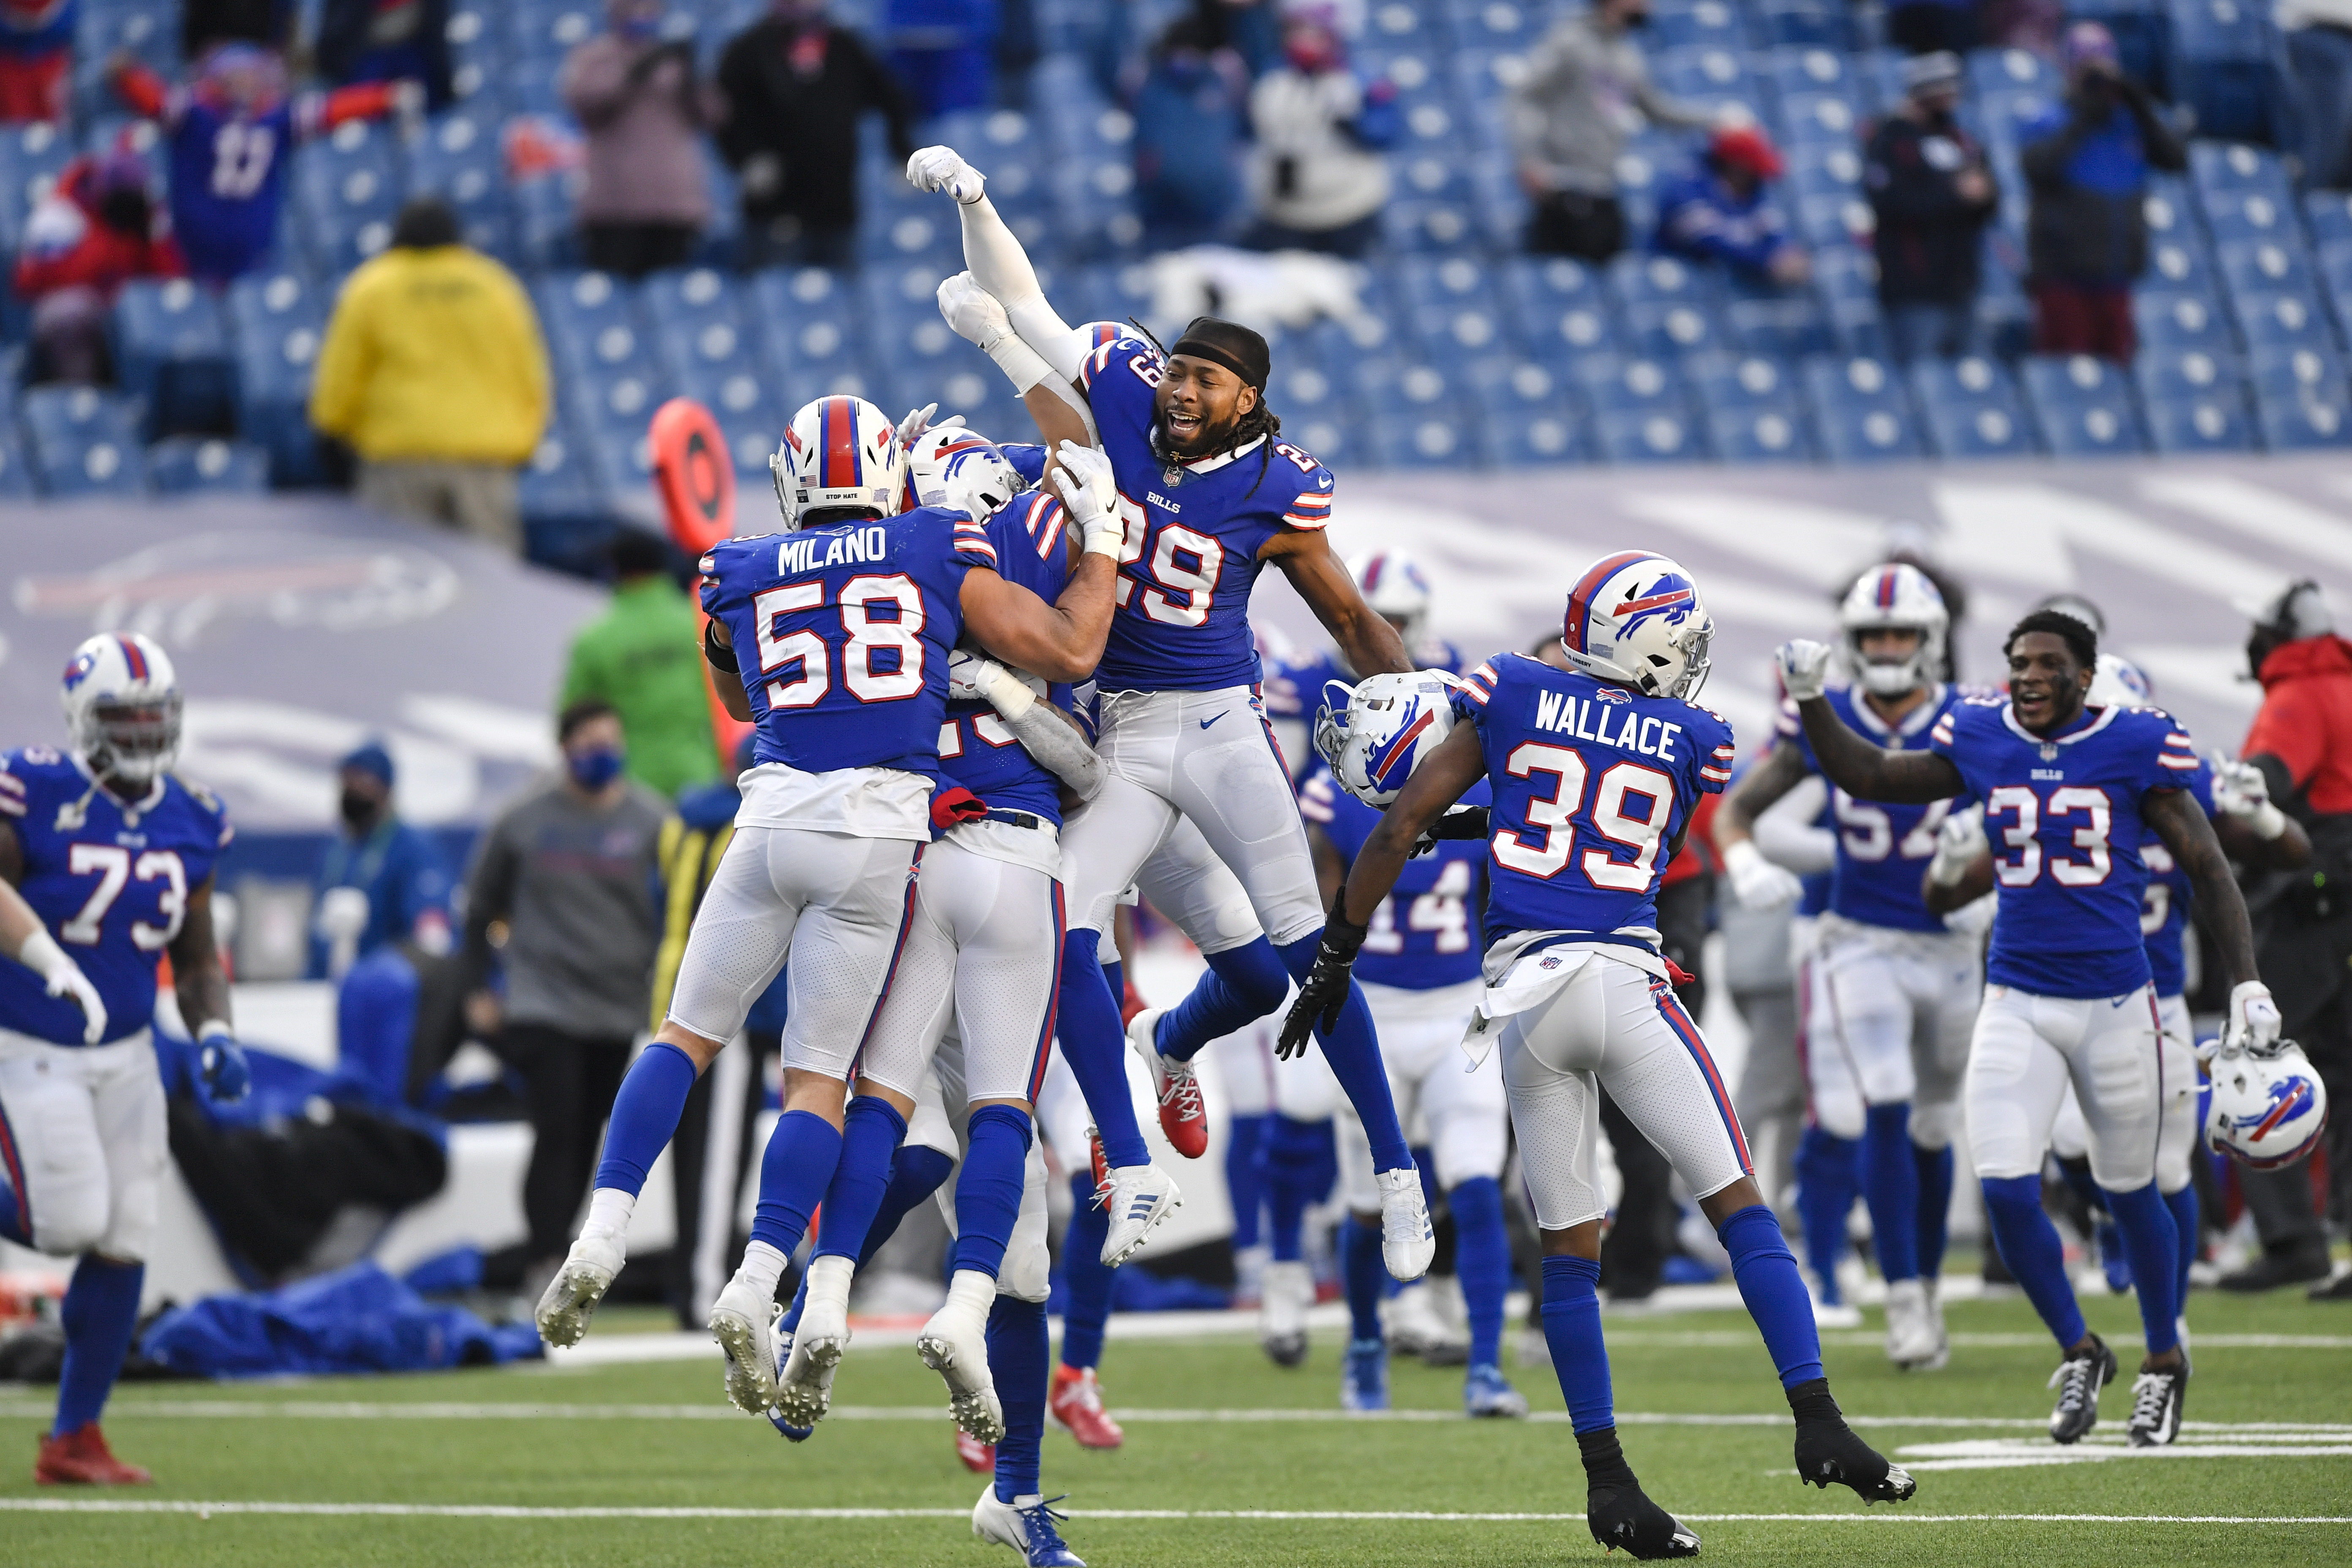
<path fill-rule="evenodd" d="M 1576 931 L 1656 950 L 1658 877 L 1700 795 L 1731 783 L 1731 724 L 1682 698 L 1496 654 L 1454 710 L 1494 785 L 1486 945 Z"/>

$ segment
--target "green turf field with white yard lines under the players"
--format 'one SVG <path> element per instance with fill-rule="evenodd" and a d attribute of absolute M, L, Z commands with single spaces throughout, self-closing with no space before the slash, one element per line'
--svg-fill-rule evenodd
<path fill-rule="evenodd" d="M 2119 1347 L 2138 1333 L 2129 1300 L 2089 1314 Z M 1609 1319 L 1628 1458 L 1700 1533 L 1705 1559 L 1726 1563 L 2352 1563 L 2343 1307 L 2298 1291 L 2199 1293 L 2187 1448 L 2100 1446 L 2114 1458 L 2065 1465 L 2037 1434 L 2053 1349 L 2032 1312 L 2013 1298 L 1962 1302 L 1950 1321 L 1952 1366 L 1924 1375 L 1891 1371 L 1872 1333 L 1830 1335 L 1846 1413 L 1919 1472 L 1900 1509 L 1865 1514 L 1851 1493 L 1797 1483 L 1780 1389 L 1733 1312 Z M 1395 1368 L 1402 1415 L 1367 1420 L 1336 1413 L 1336 1356 L 1331 1335 L 1301 1371 L 1270 1366 L 1249 1338 L 1115 1340 L 1103 1373 L 1124 1450 L 1047 1436 L 1047 1493 L 1070 1495 L 1070 1544 L 1096 1568 L 1602 1556 L 1548 1368 L 1512 1368 L 1534 1422 L 1461 1420 L 1461 1373 L 1418 1363 Z M 2133 1366 L 2107 1389 L 2096 1439 L 2122 1439 Z M 851 1352 L 835 1418 L 797 1448 L 724 1408 L 715 1359 L 143 1385 L 118 1394 L 106 1429 L 158 1486 L 94 1495 L 31 1483 L 45 1392 L 0 1387 L 0 1453 L 16 1455 L 0 1474 L 0 1542 L 7 1561 L 45 1568 L 1014 1563 L 969 1533 L 981 1479 L 957 1465 L 941 1408 L 913 1349 Z M 195 1512 L 256 1502 L 308 1507 Z M 113 1507 L 141 1512 L 92 1512 Z"/>

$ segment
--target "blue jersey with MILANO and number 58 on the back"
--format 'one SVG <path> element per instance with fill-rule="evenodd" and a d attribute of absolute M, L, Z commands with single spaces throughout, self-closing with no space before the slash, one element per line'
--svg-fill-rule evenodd
<path fill-rule="evenodd" d="M 760 729 L 753 759 L 938 778 L 948 651 L 974 567 L 997 567 L 988 527 L 941 505 L 715 545 L 703 611 L 734 642 Z"/>

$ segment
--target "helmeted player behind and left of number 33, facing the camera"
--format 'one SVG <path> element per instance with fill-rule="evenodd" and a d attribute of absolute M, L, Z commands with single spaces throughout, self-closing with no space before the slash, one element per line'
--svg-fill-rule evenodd
<path fill-rule="evenodd" d="M 1950 632 L 1943 595 L 1917 567 L 1889 562 L 1853 583 L 1837 618 L 1851 684 L 1832 689 L 1830 705 L 1879 745 L 1924 748 L 1959 701 L 1938 679 Z M 1740 903 L 1766 907 L 1802 896 L 1799 879 L 1755 846 L 1752 823 L 1818 771 L 1797 708 L 1785 703 L 1778 745 L 1715 818 L 1715 844 Z M 1860 1157 L 1872 1251 L 1886 1276 L 1886 1359 L 1905 1371 L 1938 1368 L 1950 1359 L 1936 1281 L 1952 1208 L 1952 1138 L 1983 992 L 1976 936 L 1947 931 L 1919 893 L 1952 804 L 1898 806 L 1844 790 L 1830 804 L 1837 863 L 1806 971 L 1806 1074 L 1818 1128 L 1806 1171 L 1844 1171 Z M 1811 1175 L 1802 1175 L 1799 1204 L 1809 1185 Z M 1835 1213 L 1842 1229 L 1851 1197 L 1844 1182 L 1832 1185 L 1835 1208 L 1813 1204 L 1806 1213 Z M 1832 1279 L 1823 1279 L 1825 1293 Z"/>

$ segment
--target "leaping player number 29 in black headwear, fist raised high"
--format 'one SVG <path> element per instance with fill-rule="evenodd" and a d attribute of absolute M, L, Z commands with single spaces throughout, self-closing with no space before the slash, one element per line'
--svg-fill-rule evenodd
<path fill-rule="evenodd" d="M 1117 477 L 1127 524 L 1120 609 L 1096 670 L 1096 750 L 1108 778 L 1065 839 L 1073 929 L 1061 1013 L 1063 1053 L 1112 1166 L 1117 1218 L 1122 1204 L 1145 1201 L 1122 1190 L 1122 1171 L 1145 1159 L 1145 1145 L 1127 1093 L 1124 1027 L 1096 947 L 1136 870 L 1181 818 L 1249 889 L 1291 976 L 1308 973 L 1322 931 L 1305 827 L 1256 693 L 1249 590 L 1258 571 L 1272 564 L 1291 581 L 1355 670 L 1411 665 L 1395 628 L 1364 604 L 1324 538 L 1331 470 L 1279 440 L 1282 423 L 1265 407 L 1265 339 L 1200 317 L 1169 353 L 1143 339 L 1094 346 L 1047 303 L 978 169 L 953 148 L 922 148 L 908 160 L 908 181 L 953 195 L 962 214 L 971 275 L 941 289 L 948 322 L 1023 397 L 1037 386 L 1075 383 Z M 1080 418 L 1073 409 L 1061 435 L 1077 435 Z M 1195 992 L 1190 1006 L 1157 1020 L 1155 1072 L 1185 1074 L 1202 1046 L 1254 1016 L 1230 990 Z M 1371 1140 L 1388 1269 L 1418 1279 L 1435 1246 L 1428 1204 L 1359 992 L 1331 1011 L 1319 1039 Z"/>

